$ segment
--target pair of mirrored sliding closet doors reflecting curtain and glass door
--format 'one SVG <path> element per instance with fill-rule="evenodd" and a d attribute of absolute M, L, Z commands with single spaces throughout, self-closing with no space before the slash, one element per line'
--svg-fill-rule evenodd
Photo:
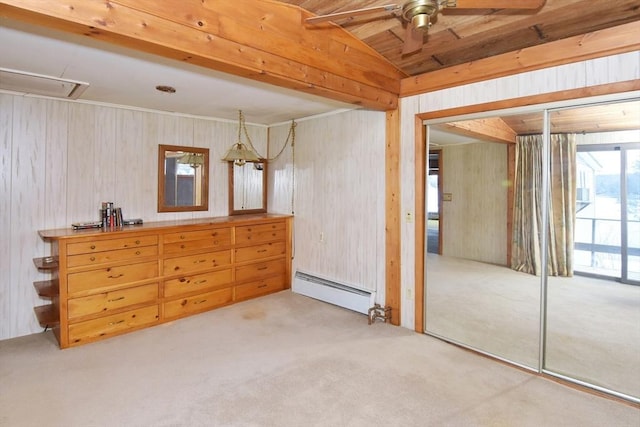
<path fill-rule="evenodd" d="M 640 401 L 640 101 L 427 135 L 425 332 Z"/>

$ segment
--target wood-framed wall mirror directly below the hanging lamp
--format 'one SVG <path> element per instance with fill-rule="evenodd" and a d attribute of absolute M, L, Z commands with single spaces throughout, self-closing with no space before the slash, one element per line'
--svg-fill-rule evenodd
<path fill-rule="evenodd" d="M 229 162 L 229 215 L 267 211 L 267 162 Z"/>

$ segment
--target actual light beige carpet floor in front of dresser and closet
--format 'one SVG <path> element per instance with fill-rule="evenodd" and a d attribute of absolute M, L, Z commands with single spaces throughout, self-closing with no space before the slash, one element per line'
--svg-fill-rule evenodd
<path fill-rule="evenodd" d="M 289 291 L 86 346 L 0 342 L 1 426 L 638 426 L 640 409 Z"/>

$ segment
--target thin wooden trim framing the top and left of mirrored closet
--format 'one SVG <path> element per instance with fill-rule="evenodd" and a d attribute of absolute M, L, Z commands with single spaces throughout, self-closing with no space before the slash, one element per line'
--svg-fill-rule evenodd
<path fill-rule="evenodd" d="M 526 96 L 521 98 L 505 99 L 496 102 L 489 102 L 484 104 L 467 105 L 464 107 L 449 108 L 446 110 L 429 111 L 426 113 L 419 113 L 415 115 L 415 330 L 416 332 L 424 332 L 424 319 L 425 319 L 425 299 L 424 299 L 424 284 L 425 284 L 425 230 L 426 219 L 424 217 L 424 202 L 425 202 L 425 152 L 426 152 L 426 126 L 424 120 L 433 120 L 446 117 L 455 117 L 464 114 L 473 114 L 479 112 L 490 112 L 495 110 L 502 110 L 509 107 L 525 107 L 529 105 L 540 105 L 551 102 L 561 102 L 571 99 L 588 98 L 592 96 L 623 94 L 625 92 L 632 92 L 640 90 L 640 79 L 630 80 L 626 82 L 609 83 L 598 86 L 590 86 L 586 88 L 563 90 L 557 92 L 542 93 L 539 95 Z"/>

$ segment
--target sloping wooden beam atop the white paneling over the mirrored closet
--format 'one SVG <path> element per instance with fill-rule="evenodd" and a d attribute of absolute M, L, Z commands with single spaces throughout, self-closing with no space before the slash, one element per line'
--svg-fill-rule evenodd
<path fill-rule="evenodd" d="M 400 96 L 520 74 L 640 49 L 640 21 L 407 77 Z"/>

